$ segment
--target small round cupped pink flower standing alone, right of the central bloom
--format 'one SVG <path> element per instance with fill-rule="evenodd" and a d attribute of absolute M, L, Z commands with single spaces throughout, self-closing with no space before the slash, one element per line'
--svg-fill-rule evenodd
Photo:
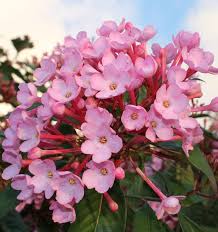
<path fill-rule="evenodd" d="M 121 121 L 127 130 L 140 130 L 145 125 L 147 112 L 141 106 L 127 105 L 121 116 Z"/>

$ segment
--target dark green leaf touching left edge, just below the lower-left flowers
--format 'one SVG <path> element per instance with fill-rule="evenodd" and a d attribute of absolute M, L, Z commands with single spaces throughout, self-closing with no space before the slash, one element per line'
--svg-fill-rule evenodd
<path fill-rule="evenodd" d="M 0 218 L 7 215 L 17 205 L 17 192 L 10 187 L 0 192 Z"/>

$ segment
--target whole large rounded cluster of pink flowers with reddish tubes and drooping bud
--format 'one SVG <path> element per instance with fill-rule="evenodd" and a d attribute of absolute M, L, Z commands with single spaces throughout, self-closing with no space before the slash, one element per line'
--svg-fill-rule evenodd
<path fill-rule="evenodd" d="M 189 155 L 203 139 L 193 115 L 218 111 L 217 98 L 195 104 L 202 92 L 194 75 L 218 69 L 213 55 L 199 47 L 198 33 L 181 31 L 165 47 L 153 44 L 150 53 L 155 34 L 152 26 L 140 30 L 124 20 L 106 21 L 94 41 L 83 31 L 66 37 L 43 57 L 35 82 L 19 85 L 20 105 L 8 118 L 2 144 L 9 164 L 2 177 L 20 191 L 19 210 L 48 199 L 55 222 L 74 222 L 88 188 L 115 211 L 108 190 L 125 177 L 128 162 L 162 200 L 159 219 L 179 212 L 178 198 L 166 197 L 133 155 L 144 144 L 175 140 Z"/>

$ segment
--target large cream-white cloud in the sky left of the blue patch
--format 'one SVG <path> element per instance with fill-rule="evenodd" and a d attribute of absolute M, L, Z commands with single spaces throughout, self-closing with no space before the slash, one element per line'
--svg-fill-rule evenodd
<path fill-rule="evenodd" d="M 50 51 L 65 35 L 87 30 L 90 36 L 105 19 L 134 19 L 131 0 L 0 0 L 0 45 L 10 48 L 12 37 L 30 35 L 31 54 Z"/>

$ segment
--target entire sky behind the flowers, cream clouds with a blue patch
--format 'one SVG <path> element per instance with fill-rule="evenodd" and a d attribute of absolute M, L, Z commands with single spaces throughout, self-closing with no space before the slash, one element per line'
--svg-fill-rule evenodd
<path fill-rule="evenodd" d="M 140 28 L 153 25 L 158 34 L 152 42 L 162 46 L 179 30 L 198 31 L 218 66 L 218 0 L 0 0 L 0 5 L 0 46 L 10 52 L 10 39 L 27 34 L 35 47 L 25 55 L 41 57 L 66 35 L 86 30 L 92 37 L 104 20 L 124 17 Z M 217 95 L 217 78 L 203 76 L 204 101 Z"/>

